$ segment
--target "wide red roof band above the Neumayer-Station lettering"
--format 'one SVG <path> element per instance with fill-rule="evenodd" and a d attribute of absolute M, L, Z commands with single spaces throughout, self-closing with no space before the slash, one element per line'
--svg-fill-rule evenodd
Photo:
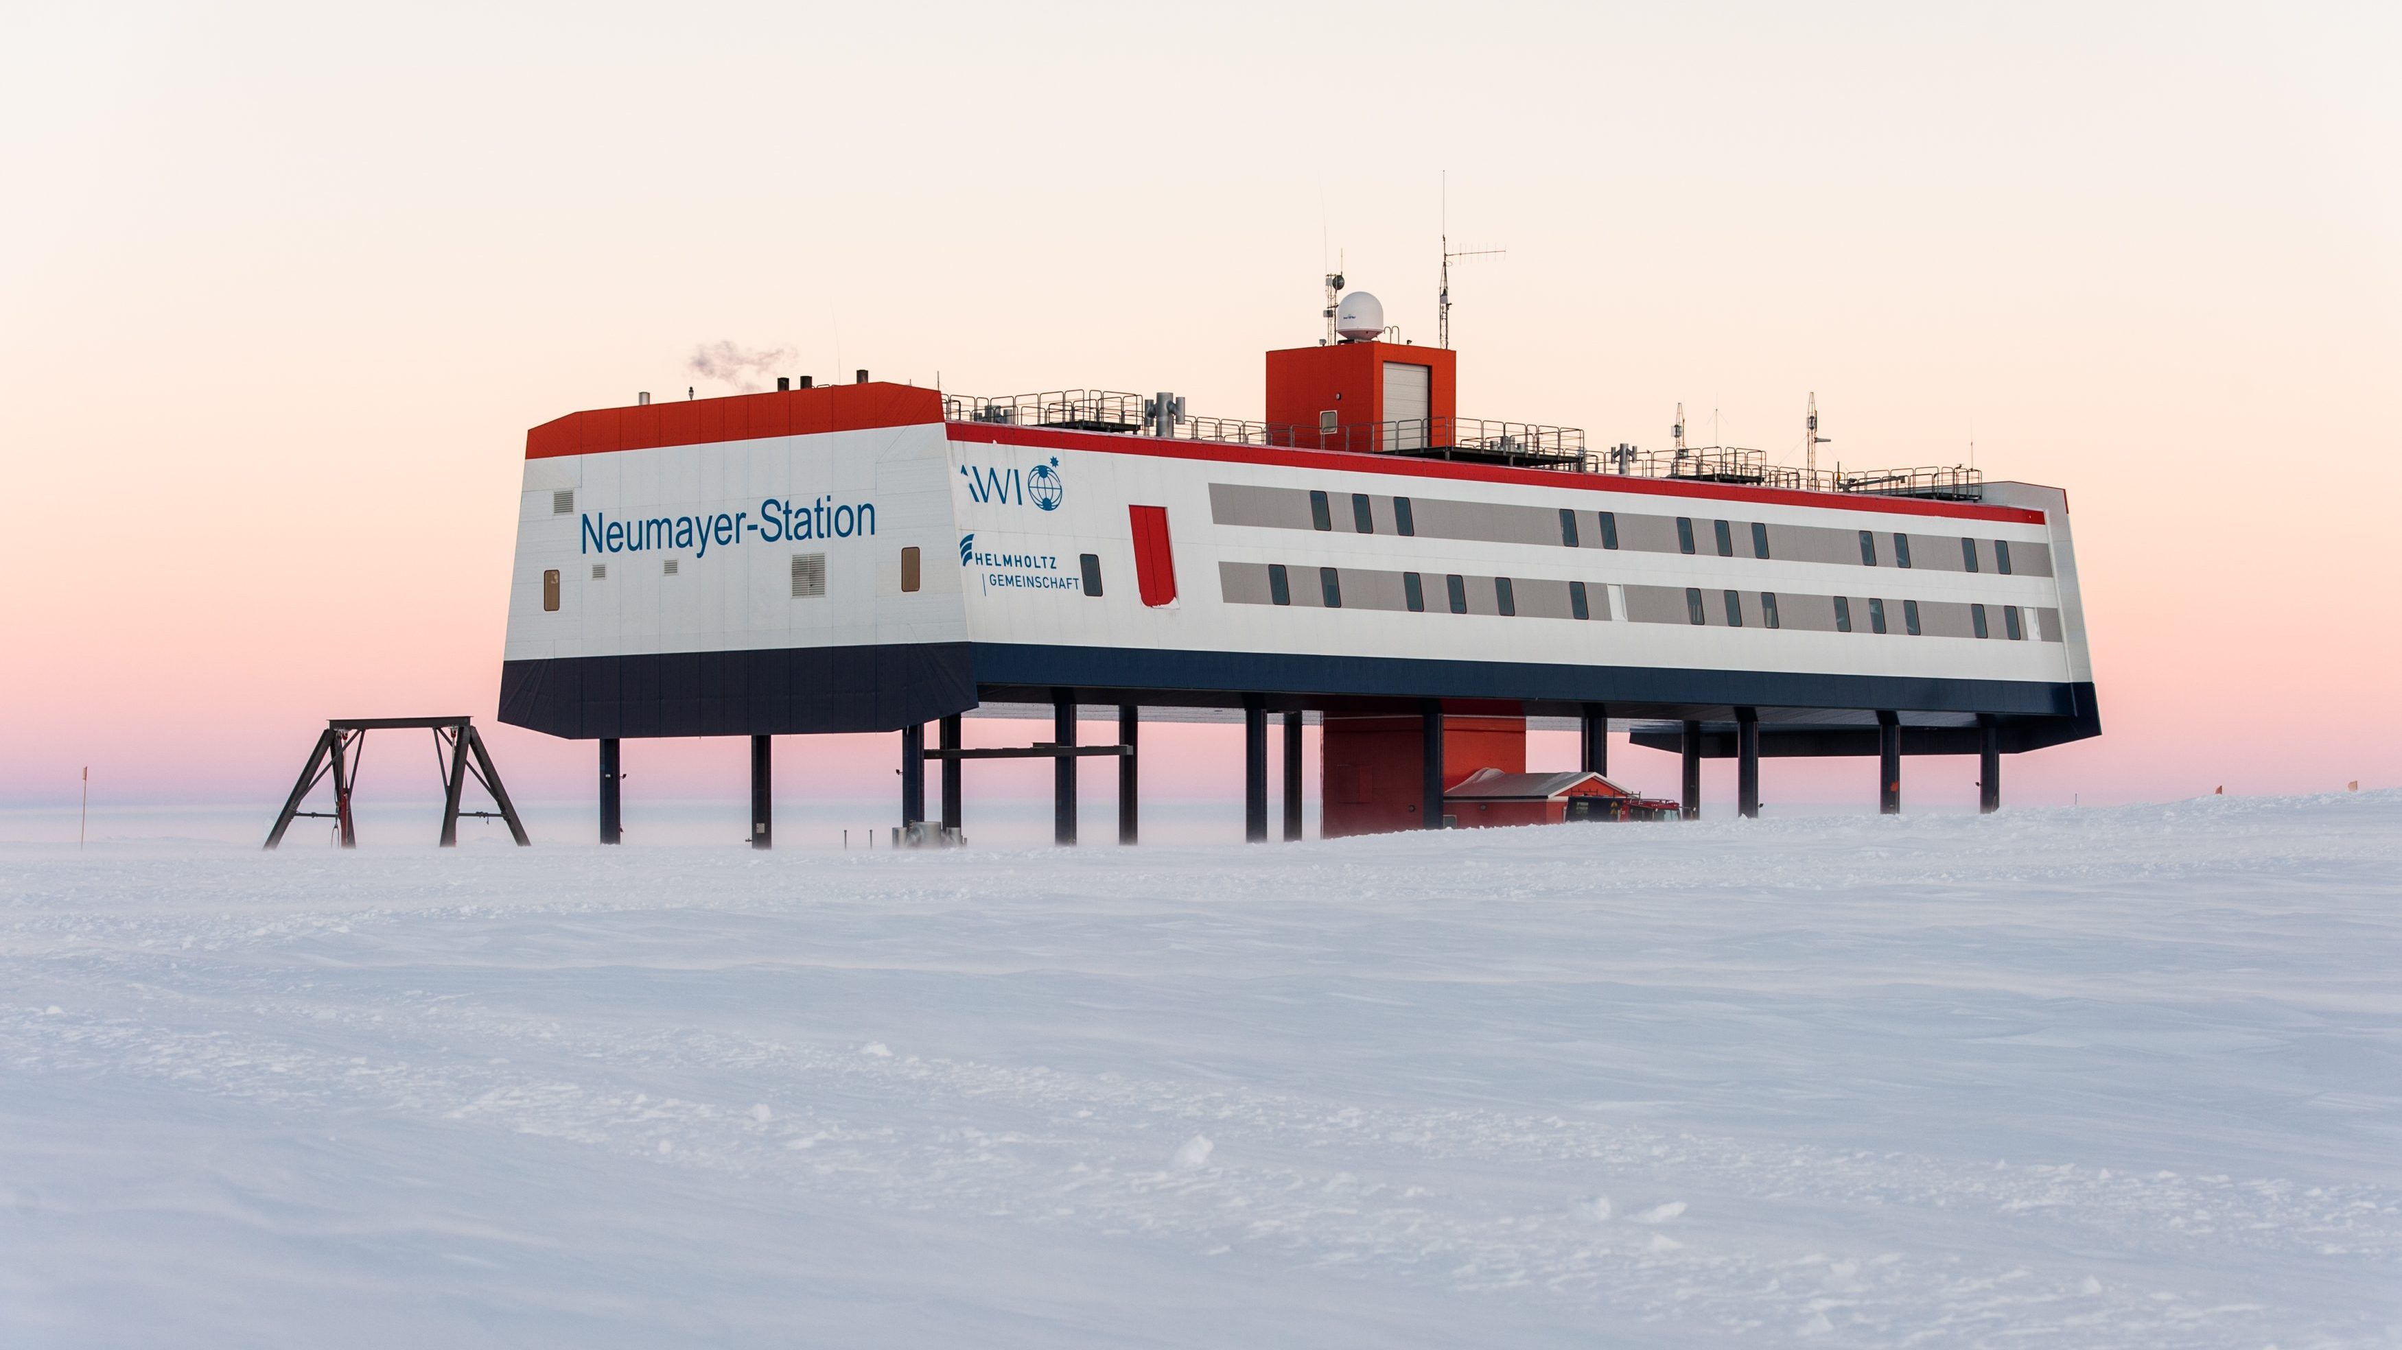
<path fill-rule="evenodd" d="M 567 413 L 526 432 L 526 459 L 711 444 L 776 435 L 908 428 L 942 420 L 942 394 L 913 384 L 826 384 Z"/>

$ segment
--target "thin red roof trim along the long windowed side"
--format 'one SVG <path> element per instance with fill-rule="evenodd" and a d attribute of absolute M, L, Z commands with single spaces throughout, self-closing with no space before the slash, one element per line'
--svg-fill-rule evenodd
<path fill-rule="evenodd" d="M 1211 464 L 1275 464 L 1283 468 L 1338 468 L 1343 473 L 1393 473 L 1403 478 L 1453 478 L 1463 483 L 1520 483 L 1528 488 L 1581 488 L 1585 492 L 1636 492 L 1655 497 L 1703 497 L 1713 502 L 1773 502 L 1780 507 L 1816 507 L 1830 512 L 1886 512 L 1895 516 L 1953 516 L 1965 521 L 2044 524 L 2042 512 L 2025 507 L 1984 507 L 1972 502 L 1929 502 L 1922 497 L 1852 497 L 1838 492 L 1792 492 L 1785 488 L 1737 488 L 1732 483 L 1677 483 L 1667 478 L 1621 478 L 1614 473 L 1561 473 L 1559 468 L 1496 468 L 1489 464 L 1451 464 L 1444 459 L 1408 459 L 1362 454 L 1352 449 L 1285 449 L 1225 444 L 1211 440 L 1165 440 L 1110 432 L 1066 432 L 1052 428 L 1009 428 L 985 423 L 949 423 L 954 442 L 1033 444 L 1042 449 L 1088 449 L 1100 454 L 1148 454 L 1158 459 L 1203 459 Z"/>

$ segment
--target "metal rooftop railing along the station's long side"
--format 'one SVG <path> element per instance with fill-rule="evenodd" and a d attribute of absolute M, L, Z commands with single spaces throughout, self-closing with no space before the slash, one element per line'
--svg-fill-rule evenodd
<path fill-rule="evenodd" d="M 1182 399 L 1177 404 L 1182 404 Z M 1175 411 L 1163 416 L 1155 399 L 1146 399 L 1143 394 L 1122 394 L 1115 389 L 1052 389 L 1045 394 L 1009 394 L 1002 399 L 949 394 L 944 396 L 944 416 L 954 423 L 1163 435 L 1172 440 L 1201 440 L 1218 444 L 1408 454 L 1412 459 L 1559 468 L 1569 473 L 1621 473 L 1629 478 L 1674 478 L 1686 483 L 1739 483 L 1753 488 L 1787 488 L 1794 492 L 1859 492 L 1876 497 L 1938 497 L 1962 502 L 1974 502 L 1984 495 L 1984 473 L 1958 464 L 1876 471 L 1811 471 L 1768 464 L 1765 452 L 1732 444 L 1679 449 L 1638 449 L 1631 444 L 1614 444 L 1588 449 L 1583 428 L 1552 428 L 1540 423 L 1504 423 L 1487 418 L 1398 418 L 1388 423 L 1292 425 L 1247 418 L 1194 418 Z"/>

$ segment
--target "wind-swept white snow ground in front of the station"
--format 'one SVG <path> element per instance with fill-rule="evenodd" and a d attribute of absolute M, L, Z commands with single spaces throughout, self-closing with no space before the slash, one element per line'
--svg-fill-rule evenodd
<path fill-rule="evenodd" d="M 0 848 L 5 1345 L 2392 1345 L 2402 795 Z"/>

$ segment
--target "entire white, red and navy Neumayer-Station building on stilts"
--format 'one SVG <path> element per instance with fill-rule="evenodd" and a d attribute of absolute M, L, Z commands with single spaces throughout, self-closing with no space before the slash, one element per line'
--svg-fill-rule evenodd
<path fill-rule="evenodd" d="M 1076 759 L 1115 757 L 1131 843 L 1143 718 L 1242 718 L 1251 838 L 1271 718 L 1285 838 L 1304 721 L 1328 836 L 1691 817 L 1703 757 L 1756 814 L 1761 757 L 1876 757 L 1900 810 L 1905 754 L 1979 754 L 1994 810 L 2003 754 L 2099 733 L 2061 490 L 1681 425 L 1588 449 L 1463 418 L 1453 351 L 1343 327 L 1268 353 L 1261 420 L 862 370 L 533 428 L 502 721 L 600 742 L 610 843 L 627 737 L 747 735 L 761 848 L 776 735 L 898 730 L 910 841 L 958 838 L 968 759 L 1047 757 L 1071 843 Z M 1115 742 L 1078 745 L 1093 711 Z M 963 716 L 1042 713 L 1050 740 L 961 747 Z M 1578 764 L 1530 769 L 1530 723 L 1578 728 Z M 1679 802 L 1607 781 L 1612 728 L 1681 754 Z"/>

